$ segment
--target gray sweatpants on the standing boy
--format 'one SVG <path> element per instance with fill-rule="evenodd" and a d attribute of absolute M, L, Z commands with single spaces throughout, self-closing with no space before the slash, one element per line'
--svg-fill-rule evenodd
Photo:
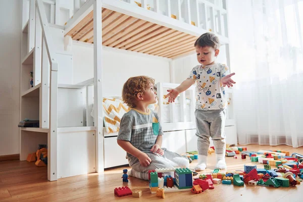
<path fill-rule="evenodd" d="M 210 137 L 214 141 L 215 153 L 224 154 L 226 149 L 224 133 L 226 110 L 195 110 L 194 115 L 198 137 L 198 154 L 207 156 Z"/>

